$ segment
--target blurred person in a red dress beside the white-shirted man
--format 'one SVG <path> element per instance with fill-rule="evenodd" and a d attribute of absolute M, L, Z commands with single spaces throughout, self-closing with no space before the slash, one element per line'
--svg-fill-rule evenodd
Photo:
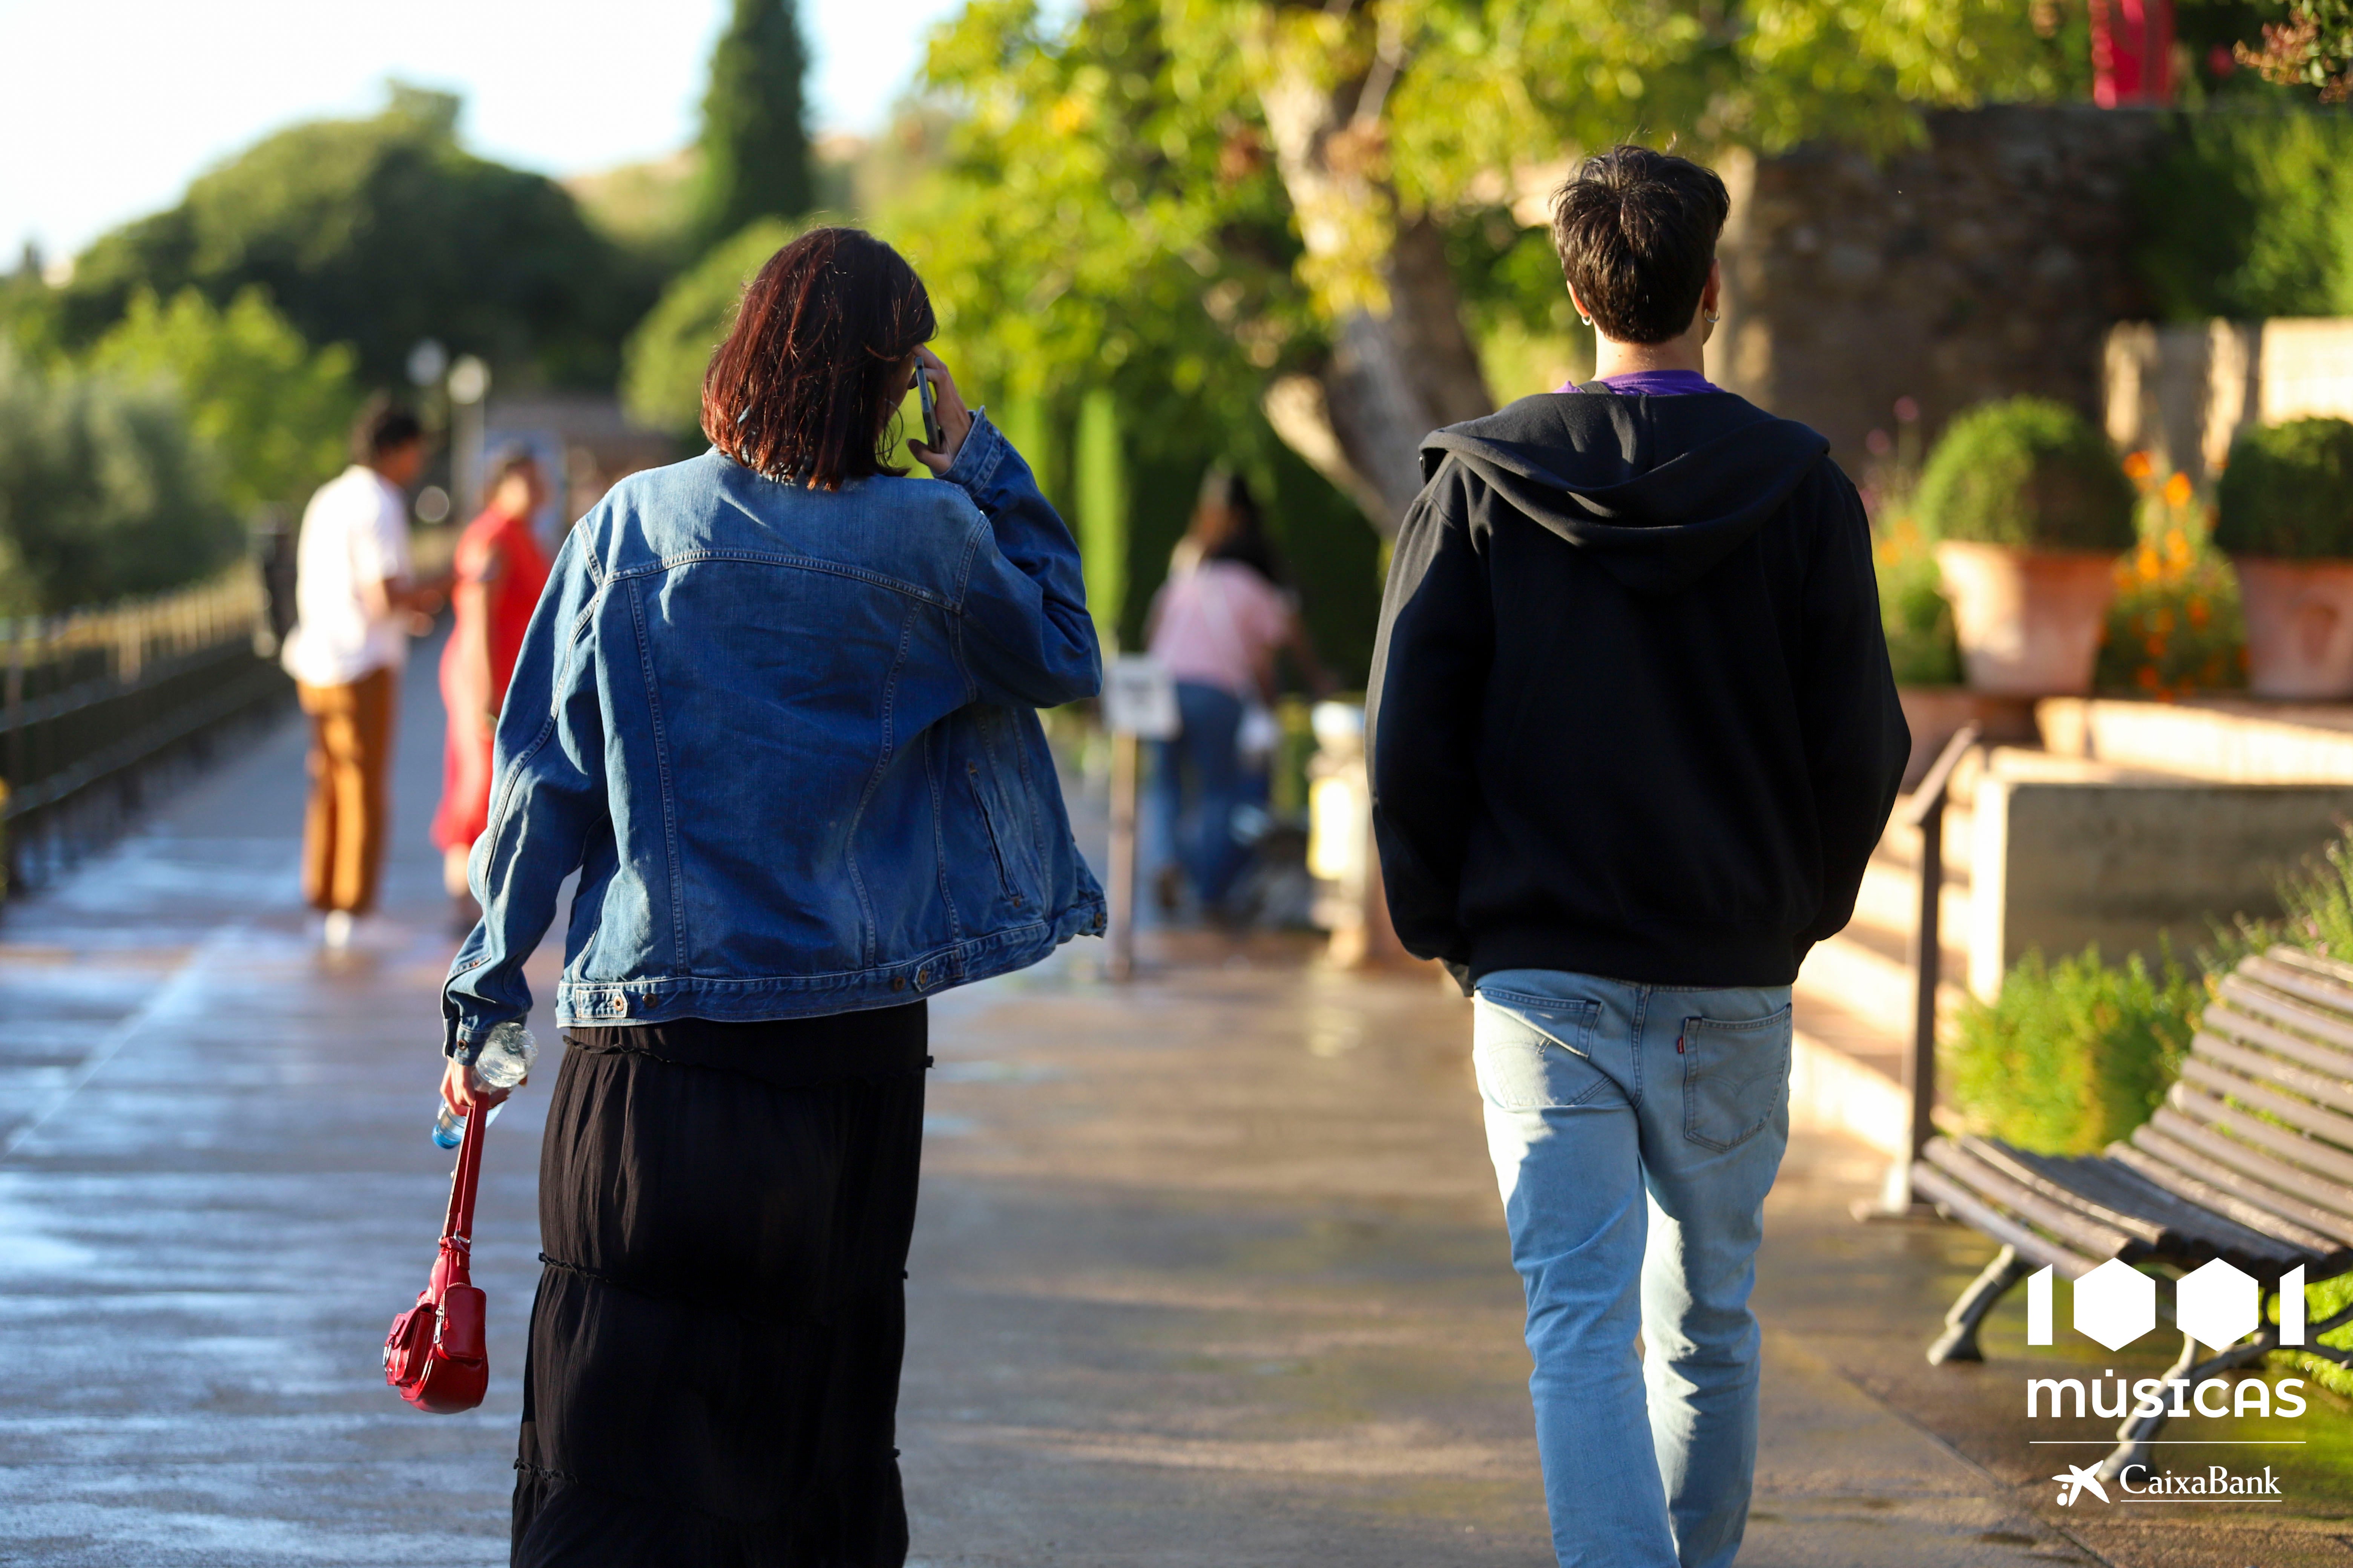
<path fill-rule="evenodd" d="M 442 649 L 449 743 L 433 844 L 442 851 L 442 884 L 468 929 L 480 910 L 466 889 L 466 858 L 489 820 L 489 741 L 515 675 L 522 628 L 548 585 L 548 557 L 532 536 L 532 515 L 546 496 L 539 463 L 527 451 L 508 454 L 492 468 L 489 505 L 456 541 L 456 588 L 449 592 L 456 628 Z"/>

